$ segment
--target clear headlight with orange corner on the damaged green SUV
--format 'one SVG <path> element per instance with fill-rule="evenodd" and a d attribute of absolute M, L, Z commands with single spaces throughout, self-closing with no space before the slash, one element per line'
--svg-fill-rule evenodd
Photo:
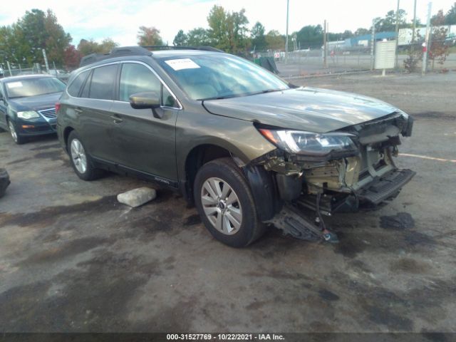
<path fill-rule="evenodd" d="M 299 155 L 326 156 L 334 152 L 357 152 L 353 135 L 347 133 L 309 133 L 300 130 L 266 130 L 260 128 L 264 137 L 277 147 Z"/>

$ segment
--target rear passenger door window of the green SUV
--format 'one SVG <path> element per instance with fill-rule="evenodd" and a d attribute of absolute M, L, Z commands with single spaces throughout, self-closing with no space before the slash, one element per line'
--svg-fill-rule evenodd
<path fill-rule="evenodd" d="M 117 64 L 111 64 L 93 69 L 89 98 L 113 100 L 117 68 Z"/>

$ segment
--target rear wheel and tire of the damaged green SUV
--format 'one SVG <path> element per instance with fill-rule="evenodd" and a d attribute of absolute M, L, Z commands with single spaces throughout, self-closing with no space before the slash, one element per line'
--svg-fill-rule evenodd
<path fill-rule="evenodd" d="M 96 180 L 103 174 L 102 170 L 93 167 L 90 155 L 75 130 L 68 136 L 67 146 L 71 166 L 81 180 Z"/>

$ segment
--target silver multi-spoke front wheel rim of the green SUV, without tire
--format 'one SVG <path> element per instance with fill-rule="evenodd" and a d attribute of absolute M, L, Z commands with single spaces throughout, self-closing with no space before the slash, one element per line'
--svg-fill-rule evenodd
<path fill-rule="evenodd" d="M 219 178 L 207 179 L 201 190 L 201 202 L 207 219 L 222 234 L 232 235 L 242 224 L 242 207 L 232 187 Z"/>

